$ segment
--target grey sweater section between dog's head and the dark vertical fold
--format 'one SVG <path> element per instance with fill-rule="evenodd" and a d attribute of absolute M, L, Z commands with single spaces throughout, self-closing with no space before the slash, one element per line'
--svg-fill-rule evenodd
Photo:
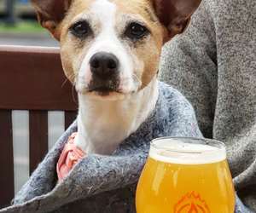
<path fill-rule="evenodd" d="M 202 2 L 187 31 L 166 43 L 160 80 L 171 84 L 189 99 L 206 137 L 212 137 L 218 81 L 216 63 L 214 24 Z"/>

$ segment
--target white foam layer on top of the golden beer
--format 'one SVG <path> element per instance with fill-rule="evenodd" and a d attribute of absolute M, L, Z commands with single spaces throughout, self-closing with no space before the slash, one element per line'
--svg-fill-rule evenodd
<path fill-rule="evenodd" d="M 153 141 L 149 157 L 172 164 L 212 164 L 226 159 L 224 146 L 213 147 L 190 140 L 192 143 L 172 138 Z"/>

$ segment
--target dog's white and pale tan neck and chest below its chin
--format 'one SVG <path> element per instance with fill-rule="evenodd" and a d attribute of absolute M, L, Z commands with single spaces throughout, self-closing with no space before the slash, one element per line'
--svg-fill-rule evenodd
<path fill-rule="evenodd" d="M 92 101 L 80 95 L 75 144 L 85 153 L 113 153 L 148 118 L 157 99 L 157 81 L 122 101 Z"/>

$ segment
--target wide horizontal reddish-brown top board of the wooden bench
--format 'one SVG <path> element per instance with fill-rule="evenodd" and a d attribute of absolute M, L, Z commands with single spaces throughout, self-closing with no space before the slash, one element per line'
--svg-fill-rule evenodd
<path fill-rule="evenodd" d="M 0 67 L 0 109 L 77 109 L 59 49 L 0 45 Z"/>

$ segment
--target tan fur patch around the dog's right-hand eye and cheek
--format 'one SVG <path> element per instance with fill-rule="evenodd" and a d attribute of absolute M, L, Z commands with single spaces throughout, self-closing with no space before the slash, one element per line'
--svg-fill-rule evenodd
<path fill-rule="evenodd" d="M 125 39 L 126 48 L 131 51 L 134 63 L 134 74 L 141 80 L 140 89 L 143 89 L 151 82 L 158 72 L 160 62 L 161 48 L 167 36 L 167 31 L 160 24 L 150 1 L 130 0 L 119 1 L 113 0 L 118 5 L 117 22 L 122 25 L 122 21 L 134 21 L 141 23 L 148 30 L 148 34 L 137 41 Z M 127 14 L 127 15 L 125 15 Z M 132 17 L 134 15 L 134 18 Z"/>

